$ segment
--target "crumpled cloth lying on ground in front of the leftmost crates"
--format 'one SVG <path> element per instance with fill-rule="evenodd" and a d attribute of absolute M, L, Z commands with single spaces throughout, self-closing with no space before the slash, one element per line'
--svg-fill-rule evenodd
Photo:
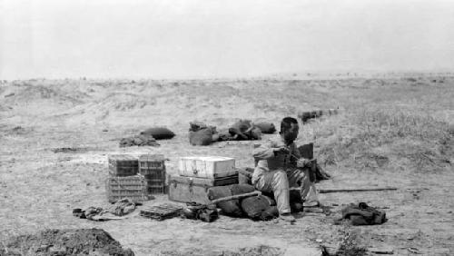
<path fill-rule="evenodd" d="M 73 210 L 74 217 L 87 219 L 91 221 L 109 221 L 122 220 L 124 216 L 134 212 L 135 204 L 128 198 L 123 198 L 114 203 L 114 205 L 103 209 L 101 207 L 90 206 L 84 211 L 80 208 Z"/>

